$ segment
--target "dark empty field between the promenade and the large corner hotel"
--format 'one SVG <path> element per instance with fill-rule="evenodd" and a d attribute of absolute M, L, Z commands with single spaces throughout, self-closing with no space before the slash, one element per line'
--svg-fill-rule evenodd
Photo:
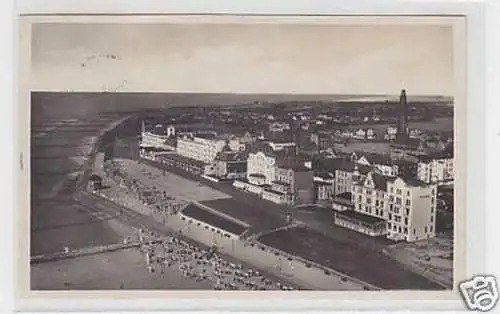
<path fill-rule="evenodd" d="M 404 270 L 399 263 L 383 254 L 326 237 L 304 227 L 275 231 L 263 235 L 259 241 L 383 289 L 442 289 L 424 277 Z"/>

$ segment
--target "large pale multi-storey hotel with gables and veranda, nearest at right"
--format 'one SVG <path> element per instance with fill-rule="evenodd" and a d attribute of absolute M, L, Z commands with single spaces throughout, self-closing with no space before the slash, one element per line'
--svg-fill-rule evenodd
<path fill-rule="evenodd" d="M 357 214 L 348 215 L 349 224 L 346 219 L 341 221 L 345 227 L 369 235 L 386 235 L 395 241 L 432 238 L 435 236 L 436 193 L 435 185 L 370 172 L 352 185 L 352 211 Z M 381 229 L 383 221 L 385 230 Z"/>

